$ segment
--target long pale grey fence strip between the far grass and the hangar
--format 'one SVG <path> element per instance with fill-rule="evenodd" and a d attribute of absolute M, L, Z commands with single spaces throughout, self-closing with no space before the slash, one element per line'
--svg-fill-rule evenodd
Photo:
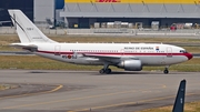
<path fill-rule="evenodd" d="M 96 34 L 96 35 L 200 35 L 199 29 L 40 29 L 44 34 Z M 16 34 L 16 28 L 1 27 L 0 34 Z"/>

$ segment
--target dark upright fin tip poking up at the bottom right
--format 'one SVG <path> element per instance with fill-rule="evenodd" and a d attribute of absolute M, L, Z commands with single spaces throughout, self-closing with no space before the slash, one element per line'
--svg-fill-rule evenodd
<path fill-rule="evenodd" d="M 186 94 L 186 80 L 182 80 L 179 85 L 177 98 L 172 112 L 183 112 L 184 109 L 184 94 Z"/>

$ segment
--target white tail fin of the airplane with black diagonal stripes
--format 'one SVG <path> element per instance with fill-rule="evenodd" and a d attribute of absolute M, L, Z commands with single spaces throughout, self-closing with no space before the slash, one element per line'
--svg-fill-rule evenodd
<path fill-rule="evenodd" d="M 18 37 L 21 43 L 31 42 L 50 42 L 56 41 L 47 38 L 24 14 L 21 10 L 8 10 L 10 18 L 16 26 Z"/>

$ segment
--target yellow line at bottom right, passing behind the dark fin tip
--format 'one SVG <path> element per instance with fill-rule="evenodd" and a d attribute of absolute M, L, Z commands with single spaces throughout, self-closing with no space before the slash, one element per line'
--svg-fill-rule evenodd
<path fill-rule="evenodd" d="M 188 93 L 188 95 L 196 95 L 198 93 Z M 101 106 L 93 106 L 89 109 L 80 109 L 80 110 L 73 110 L 73 111 L 67 111 L 67 112 L 81 112 L 81 111 L 90 111 L 90 110 L 98 110 L 98 109 L 107 109 L 107 108 L 114 108 L 114 106 L 123 106 L 128 104 L 138 104 L 138 103 L 147 103 L 147 102 L 152 102 L 152 101 L 159 101 L 159 100 L 166 100 L 166 99 L 171 99 L 174 98 L 176 95 L 170 95 L 170 96 L 162 96 L 162 98 L 156 98 L 156 99 L 149 99 L 149 100 L 141 100 L 137 102 L 124 102 L 124 103 L 118 103 L 118 104 L 110 104 L 110 105 L 101 105 Z"/>

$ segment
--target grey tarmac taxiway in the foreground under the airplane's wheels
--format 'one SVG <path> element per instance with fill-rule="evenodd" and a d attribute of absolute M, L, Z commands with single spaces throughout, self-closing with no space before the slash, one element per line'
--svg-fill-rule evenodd
<path fill-rule="evenodd" d="M 172 105 L 182 79 L 186 102 L 200 101 L 199 72 L 0 70 L 1 112 L 134 112 Z"/>

